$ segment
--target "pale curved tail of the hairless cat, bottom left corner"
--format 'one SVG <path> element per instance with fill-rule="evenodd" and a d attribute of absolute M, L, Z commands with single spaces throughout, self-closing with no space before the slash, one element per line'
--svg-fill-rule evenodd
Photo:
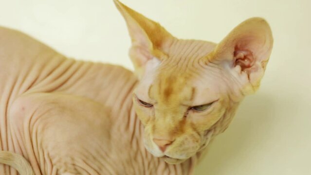
<path fill-rule="evenodd" d="M 0 151 L 0 163 L 15 168 L 19 175 L 35 175 L 30 163 L 21 155 L 8 151 Z"/>

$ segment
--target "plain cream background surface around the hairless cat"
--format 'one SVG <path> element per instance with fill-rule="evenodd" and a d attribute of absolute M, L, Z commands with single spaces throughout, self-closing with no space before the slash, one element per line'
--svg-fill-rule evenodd
<path fill-rule="evenodd" d="M 240 105 L 196 175 L 311 175 L 311 0 L 123 2 L 177 37 L 214 42 L 247 18 L 266 18 L 274 49 L 262 86 Z M 132 69 L 128 32 L 112 0 L 0 0 L 0 25 L 67 56 Z"/>

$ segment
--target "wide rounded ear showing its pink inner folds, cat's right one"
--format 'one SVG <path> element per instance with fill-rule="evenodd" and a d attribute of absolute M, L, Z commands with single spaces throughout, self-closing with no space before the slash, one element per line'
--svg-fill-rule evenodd
<path fill-rule="evenodd" d="M 234 28 L 209 56 L 209 61 L 228 68 L 254 93 L 266 69 L 273 47 L 269 24 L 262 18 L 250 18 Z M 248 86 L 251 85 L 251 86 Z"/>

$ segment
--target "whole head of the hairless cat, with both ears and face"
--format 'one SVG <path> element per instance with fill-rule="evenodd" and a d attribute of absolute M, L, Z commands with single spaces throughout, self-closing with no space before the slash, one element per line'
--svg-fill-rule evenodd
<path fill-rule="evenodd" d="M 146 149 L 181 163 L 223 132 L 239 102 L 259 87 L 273 46 L 268 23 L 250 18 L 215 44 L 183 40 L 114 0 L 126 20 L 130 58 L 139 78 L 133 93 Z"/>

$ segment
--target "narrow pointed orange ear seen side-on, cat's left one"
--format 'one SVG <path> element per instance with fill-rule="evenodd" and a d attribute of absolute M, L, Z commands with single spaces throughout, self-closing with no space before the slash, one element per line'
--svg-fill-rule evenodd
<path fill-rule="evenodd" d="M 119 0 L 114 0 L 118 10 L 124 17 L 132 46 L 129 52 L 135 70 L 142 69 L 146 62 L 154 57 L 162 60 L 165 58 L 169 45 L 174 37 L 169 34 L 159 23 L 130 9 Z"/>

